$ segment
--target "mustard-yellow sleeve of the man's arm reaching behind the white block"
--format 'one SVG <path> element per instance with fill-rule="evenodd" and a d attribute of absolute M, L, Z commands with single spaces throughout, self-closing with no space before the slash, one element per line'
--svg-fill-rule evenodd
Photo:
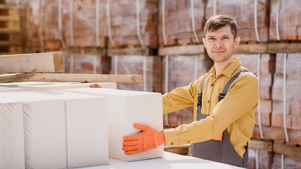
<path fill-rule="evenodd" d="M 197 95 L 197 86 L 205 75 L 198 80 L 190 82 L 185 87 L 178 87 L 171 92 L 162 95 L 163 114 L 171 113 L 194 106 L 194 98 Z"/>

